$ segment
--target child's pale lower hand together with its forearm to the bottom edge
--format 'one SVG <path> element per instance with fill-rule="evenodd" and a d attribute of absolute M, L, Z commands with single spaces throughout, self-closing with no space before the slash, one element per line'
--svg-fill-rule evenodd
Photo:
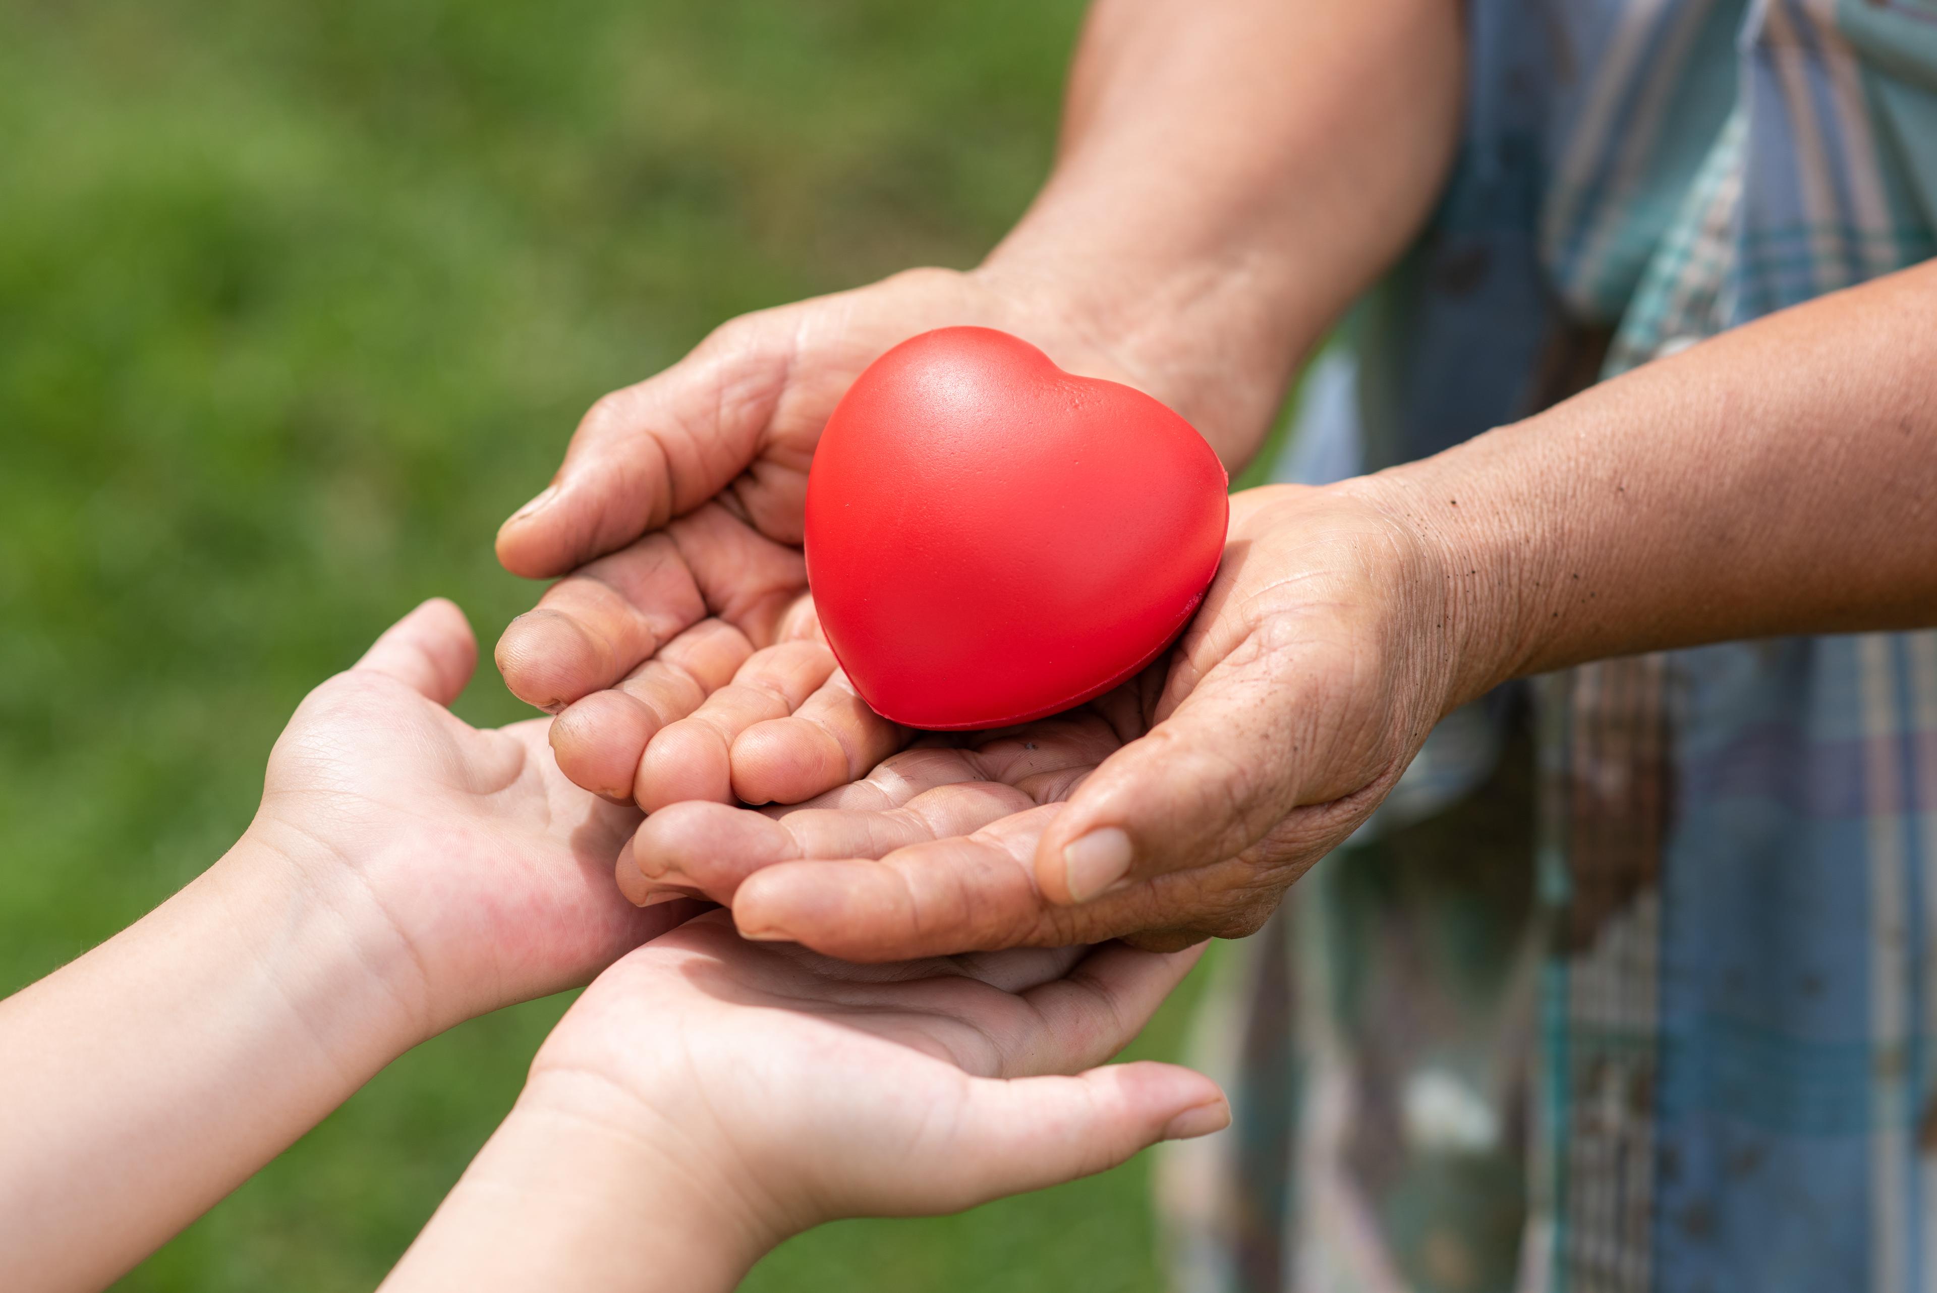
<path fill-rule="evenodd" d="M 862 967 L 707 913 L 573 1004 L 387 1287 L 730 1287 L 821 1221 L 955 1212 L 1213 1132 L 1209 1078 L 1091 1068 L 1193 960 L 1106 944 Z"/>

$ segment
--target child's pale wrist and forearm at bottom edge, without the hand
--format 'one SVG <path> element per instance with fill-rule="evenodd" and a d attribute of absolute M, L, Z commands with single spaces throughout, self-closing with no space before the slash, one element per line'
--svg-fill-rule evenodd
<path fill-rule="evenodd" d="M 538 1074 L 385 1289 L 726 1291 L 784 1231 L 721 1153 L 589 1074 Z"/>

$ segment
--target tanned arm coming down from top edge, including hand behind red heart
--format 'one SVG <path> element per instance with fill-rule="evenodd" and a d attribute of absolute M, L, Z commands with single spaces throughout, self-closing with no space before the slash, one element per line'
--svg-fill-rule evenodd
<path fill-rule="evenodd" d="M 786 611 L 806 593 L 802 496 L 854 376 L 930 328 L 1003 328 L 1158 395 L 1244 463 L 1304 351 L 1424 221 L 1462 66 L 1451 0 L 1098 4 L 1054 174 L 982 268 L 726 324 L 602 399 L 554 489 L 506 523 L 498 551 L 519 574 L 610 552 L 498 644 L 509 688 L 562 711 L 564 772 L 649 808 L 792 803 L 897 748 L 907 735 L 858 704 L 825 646 L 786 642 L 812 638 L 812 616 Z M 769 742 L 734 785 L 726 750 L 781 717 L 779 673 L 833 744 Z"/>

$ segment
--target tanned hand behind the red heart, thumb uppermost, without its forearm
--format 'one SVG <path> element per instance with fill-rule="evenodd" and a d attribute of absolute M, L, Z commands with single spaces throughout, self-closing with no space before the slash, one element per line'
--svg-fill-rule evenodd
<path fill-rule="evenodd" d="M 912 269 L 732 320 L 593 405 L 552 485 L 498 533 L 513 574 L 566 576 L 506 628 L 498 669 L 513 694 L 562 713 L 552 744 L 575 783 L 622 803 L 690 797 L 692 783 L 659 787 L 641 762 L 662 727 L 769 647 L 779 655 L 755 661 L 769 677 L 740 696 L 757 717 L 736 723 L 790 713 L 827 682 L 800 552 L 814 446 L 862 368 L 951 324 L 1013 331 L 1071 372 L 1162 386 L 1017 279 Z M 864 762 L 845 777 L 885 752 L 856 750 Z"/>

